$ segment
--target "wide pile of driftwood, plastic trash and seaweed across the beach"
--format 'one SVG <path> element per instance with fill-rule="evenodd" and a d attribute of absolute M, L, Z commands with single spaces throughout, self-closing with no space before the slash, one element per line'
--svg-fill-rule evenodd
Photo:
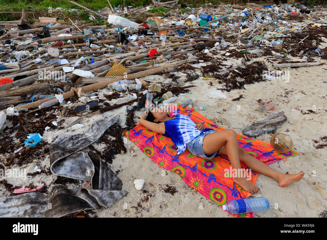
<path fill-rule="evenodd" d="M 194 79 L 223 84 L 210 98 L 226 99 L 232 89 L 327 58 L 326 49 L 318 47 L 327 40 L 327 8 L 321 6 L 209 3 L 190 8 L 178 0 L 153 2 L 96 10 L 71 2 L 78 8 L 72 11 L 90 14 L 94 23 L 88 24 L 48 17 L 30 24 L 24 10 L 20 20 L 0 22 L 4 166 L 32 163 L 31 152 L 42 158 L 52 144 L 43 139 L 44 132 L 82 128 L 80 122 L 88 116 L 124 108 L 125 131 L 130 130 L 137 124 L 136 110 L 174 102 L 196 87 L 186 84 Z M 99 19 L 107 24 L 97 25 Z M 257 59 L 262 56 L 267 62 Z M 240 64 L 223 62 L 229 59 Z M 160 83 L 154 74 L 162 76 Z M 102 88 L 109 94 L 99 94 Z M 184 105 L 206 108 L 191 100 Z M 73 116 L 80 118 L 63 127 L 65 118 Z"/>

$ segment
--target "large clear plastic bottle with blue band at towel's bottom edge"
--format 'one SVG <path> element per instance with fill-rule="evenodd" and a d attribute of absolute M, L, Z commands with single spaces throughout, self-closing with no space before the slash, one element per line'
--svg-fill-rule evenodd
<path fill-rule="evenodd" d="M 260 197 L 230 200 L 222 207 L 224 211 L 228 210 L 232 214 L 239 214 L 267 211 L 270 205 L 266 198 Z"/>

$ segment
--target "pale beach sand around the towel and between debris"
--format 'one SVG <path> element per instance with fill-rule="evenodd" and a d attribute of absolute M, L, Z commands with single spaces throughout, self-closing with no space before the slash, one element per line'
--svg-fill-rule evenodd
<path fill-rule="evenodd" d="M 326 44 L 324 44 L 326 45 Z M 257 58 L 253 60 L 266 61 L 267 57 Z M 240 60 L 231 59 L 232 64 L 240 64 Z M 266 63 L 267 64 L 267 63 Z M 205 65 L 201 63 L 200 65 Z M 198 64 L 194 65 L 199 67 Z M 260 175 L 256 185 L 261 189 L 253 197 L 266 197 L 270 202 L 270 210 L 257 213 L 254 216 L 260 217 L 318 217 L 324 209 L 327 209 L 327 151 L 325 149 L 315 149 L 317 145 L 313 140 L 319 140 L 321 136 L 327 136 L 327 112 L 326 109 L 326 84 L 322 83 L 326 80 L 326 70 L 324 66 L 301 67 L 290 70 L 290 81 L 285 83 L 278 80 L 270 80 L 260 82 L 253 85 L 246 85 L 246 90 L 232 90 L 227 92 L 229 97 L 226 100 L 212 100 L 204 93 L 208 90 L 215 90 L 221 87 L 212 81 L 213 86 L 209 86 L 208 79 L 197 79 L 188 82 L 186 85 L 197 85 L 197 88 L 189 88 L 190 92 L 185 96 L 177 96 L 176 102 L 182 102 L 185 99 L 195 99 L 196 104 L 205 104 L 206 110 L 200 111 L 206 118 L 213 120 L 224 128 L 234 129 L 238 133 L 242 133 L 242 129 L 251 125 L 253 122 L 266 118 L 269 114 L 283 111 L 287 117 L 287 121 L 282 124 L 277 132 L 286 133 L 293 139 L 293 149 L 299 152 L 298 156 L 287 158 L 286 162 L 280 161 L 270 164 L 269 166 L 282 173 L 298 173 L 304 171 L 305 175 L 300 182 L 291 184 L 287 187 L 279 187 L 278 183 L 267 176 Z M 155 76 L 155 82 L 161 83 L 164 78 L 159 75 Z M 181 74 L 181 77 L 184 75 Z M 183 78 L 182 78 L 183 79 Z M 109 89 L 104 88 L 99 91 L 100 98 L 102 94 L 108 94 Z M 288 92 L 288 93 L 286 93 Z M 232 102 L 231 99 L 243 94 L 240 101 Z M 269 112 L 258 112 L 255 109 L 259 106 L 257 100 L 263 102 L 273 100 L 280 105 Z M 115 103 L 115 100 L 112 100 Z M 306 111 L 316 107 L 316 114 L 301 114 L 301 110 Z M 226 111 L 224 111 L 225 109 Z M 238 111 L 237 109 L 240 109 Z M 55 127 L 43 135 L 44 139 L 56 138 L 61 134 L 76 134 L 85 131 L 92 123 L 104 116 L 111 114 L 120 115 L 121 125 L 125 123 L 126 107 L 121 107 L 113 111 L 99 114 L 89 118 L 85 118 L 82 124 L 85 127 L 78 130 L 55 130 Z M 141 117 L 143 112 L 135 113 L 135 116 Z M 61 118 L 58 118 L 60 120 Z M 77 120 L 78 117 L 65 118 L 64 126 Z M 10 125 L 10 122 L 6 123 Z M 59 127 L 59 126 L 58 126 Z M 265 134 L 257 137 L 257 139 L 269 142 L 270 135 Z M 322 144 L 322 141 L 319 141 Z M 98 148 L 99 145 L 94 145 Z M 104 145 L 103 145 L 104 146 Z M 227 215 L 213 201 L 205 198 L 196 190 L 188 186 L 181 177 L 169 170 L 165 170 L 155 164 L 150 158 L 141 152 L 131 141 L 125 138 L 126 154 L 118 154 L 110 164 L 110 168 L 115 172 L 120 170 L 118 177 L 122 180 L 123 186 L 129 191 L 129 194 L 123 199 L 116 202 L 109 209 L 100 209 L 96 212 L 99 217 L 118 216 L 118 217 L 232 217 Z M 129 153 L 129 148 L 134 148 L 135 152 Z M 101 150 L 101 149 L 99 149 Z M 3 157 L 3 156 L 0 156 Z M 48 155 L 43 161 L 35 160 L 26 166 L 27 172 L 34 172 L 34 166 L 38 164 L 39 168 L 44 165 L 49 167 Z M 313 174 L 315 172 L 315 174 Z M 37 175 L 36 177 L 27 177 L 20 180 L 8 178 L 10 184 L 26 185 L 30 182 L 43 181 L 48 186 L 56 179 L 57 176 Z M 145 179 L 143 189 L 147 193 L 134 188 L 135 179 Z M 150 186 L 149 183 L 154 186 Z M 164 193 L 160 190 L 159 184 L 171 184 L 176 187 L 177 193 Z M 81 183 L 82 185 L 82 183 Z M 52 185 L 49 186 L 50 190 Z M 75 187 L 73 185 L 71 188 Z M 163 185 L 163 187 L 165 187 Z M 151 194 L 150 202 L 140 203 L 142 207 L 136 209 L 131 208 L 137 206 L 141 198 Z M 9 193 L 3 188 L 0 189 L 0 196 L 8 196 Z M 278 207 L 277 207 L 278 204 Z M 201 207 L 202 206 L 202 207 Z M 144 209 L 143 209 L 144 208 Z M 136 213 L 138 212 L 138 213 Z"/>

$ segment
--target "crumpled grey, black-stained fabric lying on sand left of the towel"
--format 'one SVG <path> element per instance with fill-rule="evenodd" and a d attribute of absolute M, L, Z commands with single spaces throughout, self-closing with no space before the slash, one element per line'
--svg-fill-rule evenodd
<path fill-rule="evenodd" d="M 62 217 L 82 209 L 109 208 L 128 194 L 122 181 L 87 148 L 119 117 L 96 121 L 82 134 L 62 135 L 50 145 L 50 169 L 58 176 L 90 181 L 91 188 L 56 184 L 48 194 L 30 192 L 0 200 L 0 217 Z"/>

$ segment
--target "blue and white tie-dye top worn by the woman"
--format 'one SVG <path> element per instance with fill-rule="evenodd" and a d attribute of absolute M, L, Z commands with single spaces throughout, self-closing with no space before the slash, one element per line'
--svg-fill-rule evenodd
<path fill-rule="evenodd" d="M 178 147 L 177 153 L 185 151 L 186 144 L 198 137 L 202 132 L 210 130 L 205 128 L 198 130 L 195 123 L 186 115 L 177 114 L 174 119 L 164 121 L 165 133 L 163 136 L 170 137 Z"/>

